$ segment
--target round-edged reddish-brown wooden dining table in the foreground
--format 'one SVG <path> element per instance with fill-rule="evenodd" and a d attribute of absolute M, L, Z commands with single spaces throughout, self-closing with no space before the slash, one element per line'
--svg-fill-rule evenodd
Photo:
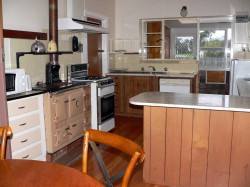
<path fill-rule="evenodd" d="M 2 187 L 103 187 L 90 175 L 74 168 L 37 160 L 0 160 Z"/>

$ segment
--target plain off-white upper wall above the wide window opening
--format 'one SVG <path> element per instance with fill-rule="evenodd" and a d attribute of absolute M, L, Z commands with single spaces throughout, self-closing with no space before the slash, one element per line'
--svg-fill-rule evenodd
<path fill-rule="evenodd" d="M 180 17 L 184 5 L 188 17 L 250 13 L 249 0 L 116 0 L 115 37 L 139 38 L 139 19 Z"/>

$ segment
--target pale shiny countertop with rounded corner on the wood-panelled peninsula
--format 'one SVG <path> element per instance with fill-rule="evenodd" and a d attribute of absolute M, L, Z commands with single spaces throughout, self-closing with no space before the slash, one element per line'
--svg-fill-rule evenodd
<path fill-rule="evenodd" d="M 145 92 L 130 98 L 133 105 L 250 112 L 250 97 Z"/>

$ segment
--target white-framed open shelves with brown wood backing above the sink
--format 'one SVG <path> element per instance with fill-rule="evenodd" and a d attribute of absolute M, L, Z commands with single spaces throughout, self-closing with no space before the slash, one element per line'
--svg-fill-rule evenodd
<path fill-rule="evenodd" d="M 164 59 L 170 57 L 170 29 L 164 20 L 142 21 L 142 58 Z"/>

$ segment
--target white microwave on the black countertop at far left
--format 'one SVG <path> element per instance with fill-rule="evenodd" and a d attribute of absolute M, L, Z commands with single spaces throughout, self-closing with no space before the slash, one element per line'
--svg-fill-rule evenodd
<path fill-rule="evenodd" d="M 24 69 L 5 70 L 6 94 L 17 94 L 26 91 L 26 75 Z"/>

